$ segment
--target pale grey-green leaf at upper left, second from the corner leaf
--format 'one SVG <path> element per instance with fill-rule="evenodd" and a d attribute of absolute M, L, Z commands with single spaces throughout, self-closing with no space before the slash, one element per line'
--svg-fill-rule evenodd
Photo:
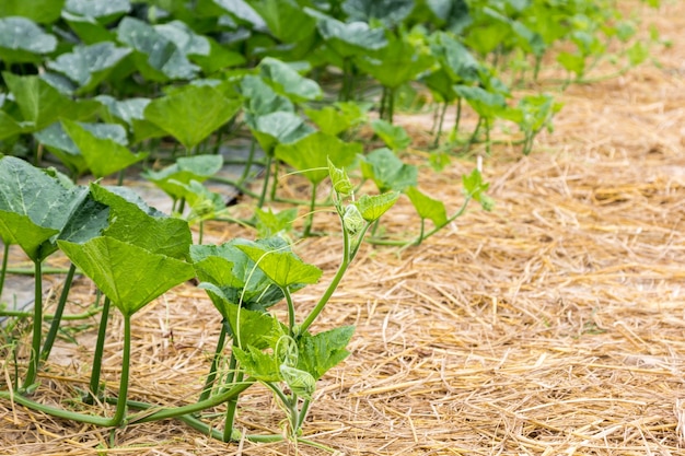
<path fill-rule="evenodd" d="M 113 43 L 76 46 L 71 52 L 61 54 L 48 68 L 66 74 L 79 84 L 79 92 L 88 92 L 107 78 L 114 67 L 131 52 L 129 48 Z"/>

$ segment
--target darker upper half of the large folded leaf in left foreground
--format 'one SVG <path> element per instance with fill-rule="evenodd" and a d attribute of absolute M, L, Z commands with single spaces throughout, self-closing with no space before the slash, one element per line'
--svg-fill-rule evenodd
<path fill-rule="evenodd" d="M 103 232 L 106 236 L 154 254 L 179 259 L 188 257 L 193 237 L 185 220 L 148 207 L 125 187 L 91 184 L 91 194 L 96 201 L 109 207 L 109 226 Z"/>

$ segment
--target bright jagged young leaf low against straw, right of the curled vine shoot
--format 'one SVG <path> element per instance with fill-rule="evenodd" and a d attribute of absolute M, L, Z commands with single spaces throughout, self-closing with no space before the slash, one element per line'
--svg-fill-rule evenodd
<path fill-rule="evenodd" d="M 298 341 L 298 369 L 321 378 L 349 355 L 345 348 L 353 334 L 353 326 L 342 326 L 315 336 L 303 335 Z"/>

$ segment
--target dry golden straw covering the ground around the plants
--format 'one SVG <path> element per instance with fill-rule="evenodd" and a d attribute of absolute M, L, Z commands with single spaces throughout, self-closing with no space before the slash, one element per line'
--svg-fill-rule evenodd
<path fill-rule="evenodd" d="M 654 46 L 659 66 L 571 85 L 558 95 L 566 105 L 554 135 L 541 136 L 532 155 L 500 145 L 484 157 L 492 212 L 472 206 L 418 247 L 363 247 L 313 327 L 353 324 L 357 332 L 350 356 L 318 384 L 309 439 L 345 455 L 685 455 L 685 5 L 663 3 L 642 12 L 673 40 Z M 428 117 L 399 122 L 420 139 Z M 474 164 L 422 168 L 420 188 L 453 211 Z M 298 183 L 283 180 L 283 195 Z M 337 230 L 325 214 L 315 223 Z M 409 201 L 383 226 L 415 232 Z M 218 223 L 209 231 L 218 242 L 251 236 Z M 339 248 L 336 236 L 298 245 L 325 271 L 295 295 L 300 308 L 327 284 Z M 77 290 L 91 291 L 85 280 Z M 132 398 L 195 400 L 219 320 L 190 284 L 137 314 Z M 88 382 L 91 325 L 81 346 L 60 342 L 40 400 L 63 402 Z M 111 334 L 104 375 L 115 390 L 120 331 Z M 282 418 L 254 387 L 237 425 L 278 433 Z M 228 445 L 176 421 L 119 430 L 108 447 L 106 430 L 7 401 L 0 423 L 0 454 L 324 454 Z"/>

